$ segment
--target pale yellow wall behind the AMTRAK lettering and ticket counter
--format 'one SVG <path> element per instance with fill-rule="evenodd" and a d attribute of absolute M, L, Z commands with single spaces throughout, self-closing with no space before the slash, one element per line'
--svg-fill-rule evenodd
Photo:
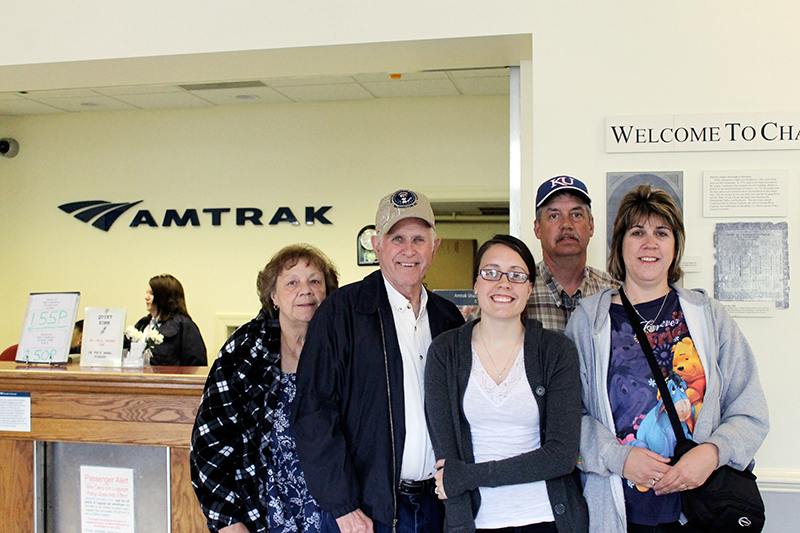
<path fill-rule="evenodd" d="M 485 96 L 3 117 L 21 150 L 0 161 L 0 345 L 18 341 L 30 292 L 78 290 L 81 310 L 127 307 L 133 323 L 147 280 L 168 272 L 213 356 L 215 316 L 255 315 L 256 274 L 282 246 L 318 246 L 351 282 L 371 271 L 355 238 L 382 196 L 506 198 L 507 110 Z M 103 232 L 58 209 L 80 200 L 143 202 Z M 333 225 L 303 223 L 324 205 Z M 268 225 L 283 206 L 299 226 Z M 217 207 L 259 208 L 264 225 L 232 212 L 214 227 L 201 211 Z M 197 209 L 200 227 L 129 227 L 138 209 L 160 225 L 170 208 Z"/>

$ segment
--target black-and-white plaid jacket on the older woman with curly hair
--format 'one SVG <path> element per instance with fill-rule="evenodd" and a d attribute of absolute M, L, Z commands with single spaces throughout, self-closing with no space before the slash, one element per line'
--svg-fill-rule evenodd
<path fill-rule="evenodd" d="M 268 531 L 269 436 L 280 392 L 280 325 L 262 310 L 227 340 L 206 381 L 192 431 L 192 485 L 208 528 Z M 260 503 L 263 502 L 263 503 Z"/>

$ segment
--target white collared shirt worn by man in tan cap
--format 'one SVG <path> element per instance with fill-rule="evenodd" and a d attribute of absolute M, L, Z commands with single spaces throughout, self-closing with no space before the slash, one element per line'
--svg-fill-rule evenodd
<path fill-rule="evenodd" d="M 422 481 L 433 477 L 436 458 L 433 455 L 428 425 L 425 422 L 425 362 L 431 345 L 428 322 L 428 293 L 422 289 L 419 316 L 414 316 L 411 302 L 383 278 L 394 327 L 403 356 L 403 397 L 405 398 L 406 440 L 400 479 Z"/>

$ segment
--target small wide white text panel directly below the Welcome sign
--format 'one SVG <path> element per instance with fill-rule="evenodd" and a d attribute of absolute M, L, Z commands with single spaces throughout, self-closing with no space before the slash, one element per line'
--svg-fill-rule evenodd
<path fill-rule="evenodd" d="M 704 217 L 785 217 L 788 211 L 787 170 L 703 172 Z"/>

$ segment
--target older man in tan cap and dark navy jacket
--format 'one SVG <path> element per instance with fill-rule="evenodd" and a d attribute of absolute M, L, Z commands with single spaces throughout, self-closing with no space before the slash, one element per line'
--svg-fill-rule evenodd
<path fill-rule="evenodd" d="M 375 229 L 380 270 L 328 296 L 309 325 L 292 429 L 342 533 L 441 531 L 423 372 L 432 338 L 464 319 L 422 285 L 441 242 L 425 195 L 383 198 Z"/>

